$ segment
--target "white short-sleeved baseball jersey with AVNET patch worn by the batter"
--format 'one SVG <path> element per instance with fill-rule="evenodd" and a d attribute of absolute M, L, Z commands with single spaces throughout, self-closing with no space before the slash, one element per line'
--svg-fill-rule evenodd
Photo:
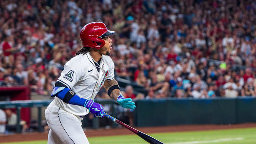
<path fill-rule="evenodd" d="M 81 98 L 94 99 L 104 81 L 114 79 L 114 63 L 109 56 L 102 55 L 100 65 L 96 63 L 105 72 L 102 69 L 98 72 L 95 63 L 89 52 L 84 55 L 79 54 L 64 65 L 64 70 L 57 81 L 62 82 Z M 53 103 L 76 116 L 89 113 L 87 108 L 65 103 L 56 96 Z"/>

